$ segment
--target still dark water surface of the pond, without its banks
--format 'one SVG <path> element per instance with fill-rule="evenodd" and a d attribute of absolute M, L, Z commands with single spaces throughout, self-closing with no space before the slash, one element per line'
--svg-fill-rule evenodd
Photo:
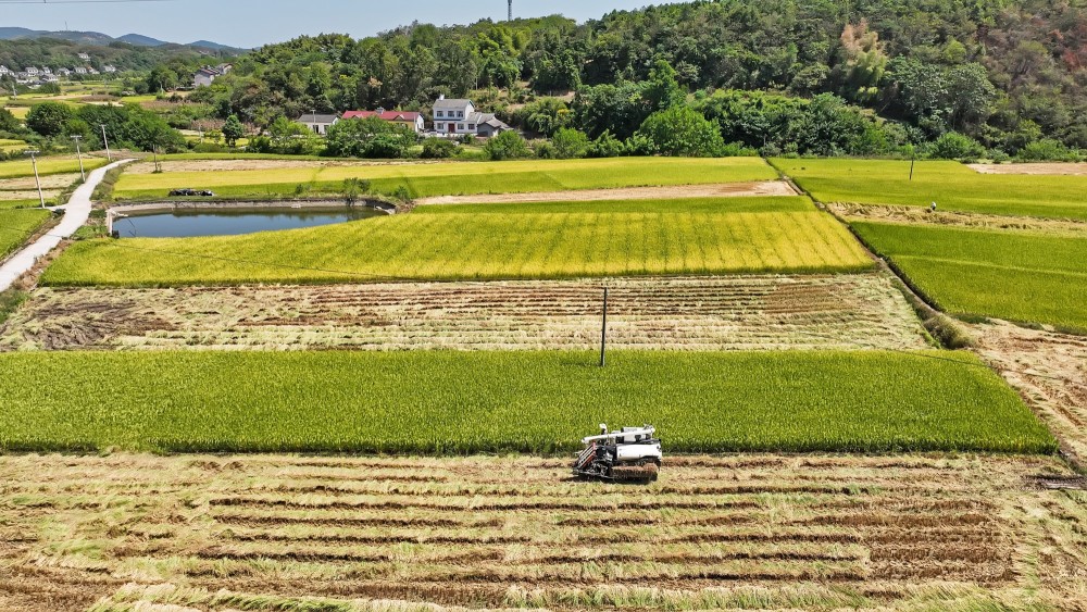
<path fill-rule="evenodd" d="M 257 232 L 316 227 L 358 221 L 385 213 L 366 207 L 335 209 L 177 210 L 116 218 L 122 238 L 191 238 L 237 236 Z"/>

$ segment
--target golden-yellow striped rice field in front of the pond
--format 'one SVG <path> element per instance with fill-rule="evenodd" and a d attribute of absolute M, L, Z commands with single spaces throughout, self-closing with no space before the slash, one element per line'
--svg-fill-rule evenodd
<path fill-rule="evenodd" d="M 335 226 L 177 239 L 90 240 L 52 286 L 178 286 L 825 273 L 874 263 L 802 197 L 435 205 Z"/>

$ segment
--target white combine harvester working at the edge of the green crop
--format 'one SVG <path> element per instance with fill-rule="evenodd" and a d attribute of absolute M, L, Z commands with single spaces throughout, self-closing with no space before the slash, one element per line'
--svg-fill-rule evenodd
<path fill-rule="evenodd" d="M 574 475 L 582 478 L 616 483 L 651 483 L 661 467 L 661 440 L 657 428 L 623 427 L 608 433 L 600 425 L 600 434 L 582 438 L 585 450 L 577 453 Z"/>

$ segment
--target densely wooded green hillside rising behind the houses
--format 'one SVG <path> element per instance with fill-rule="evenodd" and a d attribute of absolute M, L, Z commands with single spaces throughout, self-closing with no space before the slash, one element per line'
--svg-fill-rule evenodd
<path fill-rule="evenodd" d="M 523 123 L 527 115 L 503 107 L 526 100 L 526 83 L 539 95 L 578 92 L 571 113 L 545 109 L 548 116 L 537 117 L 544 123 L 625 137 L 658 110 L 644 89 L 663 61 L 696 108 L 728 124 L 730 142 L 773 152 L 790 147 L 805 125 L 832 121 L 851 124 L 852 136 L 815 152 L 878 152 L 954 132 L 990 150 L 1015 154 L 1029 145 L 1052 153 L 1087 147 L 1083 4 L 709 0 L 583 25 L 561 17 L 415 24 L 362 40 L 324 35 L 268 46 L 202 95 L 223 118 L 267 125 L 312 109 L 425 109 L 439 93 L 512 88 L 484 104 Z M 804 101 L 812 98 L 815 110 Z M 804 138 L 820 136 L 808 129 Z M 954 135 L 946 146 L 977 142 Z"/>

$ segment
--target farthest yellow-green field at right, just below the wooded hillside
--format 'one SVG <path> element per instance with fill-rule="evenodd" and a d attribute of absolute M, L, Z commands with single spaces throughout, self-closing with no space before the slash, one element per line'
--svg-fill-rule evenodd
<path fill-rule="evenodd" d="M 958 162 L 773 160 L 821 202 L 900 204 L 999 215 L 1087 220 L 1087 176 L 979 174 Z"/>

